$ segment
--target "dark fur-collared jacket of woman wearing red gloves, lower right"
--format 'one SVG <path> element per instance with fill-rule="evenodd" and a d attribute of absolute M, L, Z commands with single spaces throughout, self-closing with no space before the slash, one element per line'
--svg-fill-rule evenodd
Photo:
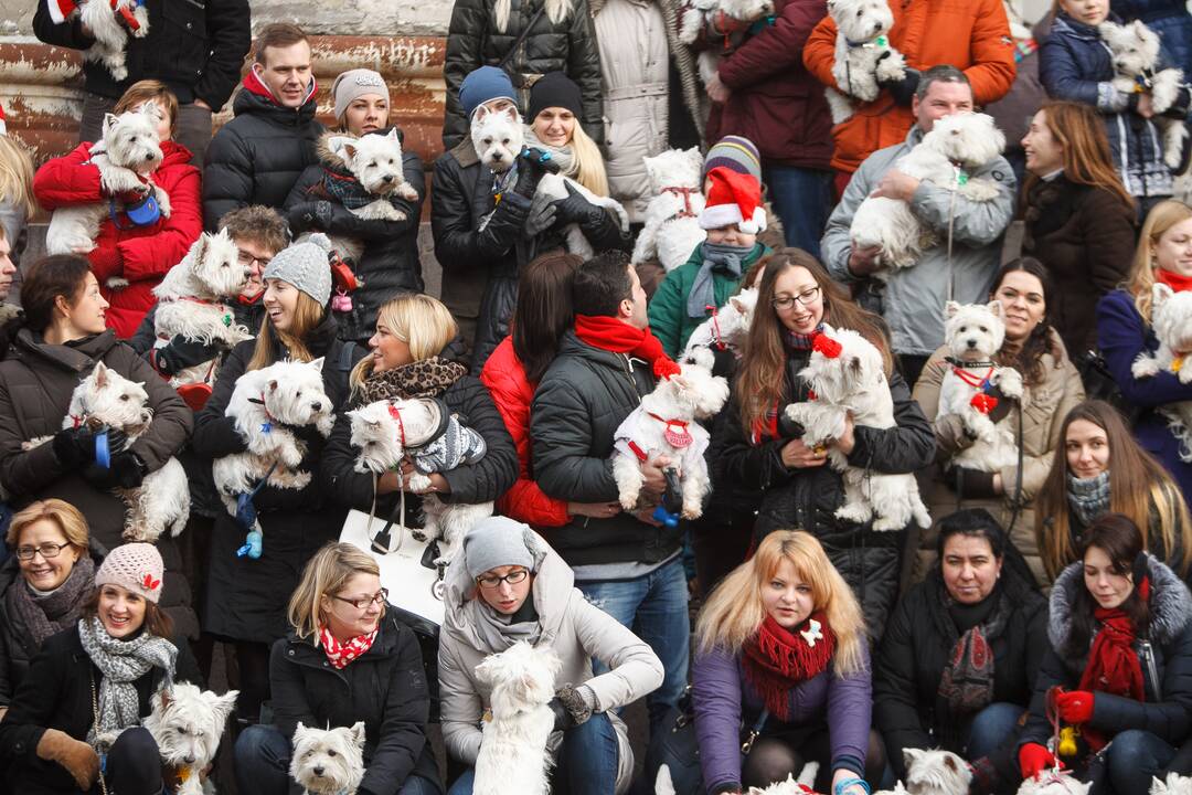
<path fill-rule="evenodd" d="M 1192 596 L 1179 577 L 1154 555 L 1147 554 L 1150 578 L 1149 642 L 1135 641 L 1142 666 L 1146 701 L 1134 701 L 1107 692 L 1093 698 L 1088 725 L 1105 734 L 1136 728 L 1151 732 L 1165 743 L 1179 746 L 1192 727 Z M 1080 687 L 1088 653 L 1067 653 L 1076 589 L 1085 588 L 1085 566 L 1079 560 L 1055 579 L 1048 617 L 1049 648 L 1035 682 L 1031 713 L 1020 734 L 1022 743 L 1047 745 L 1051 725 L 1047 719 L 1047 691 L 1053 685 L 1066 690 Z"/>

